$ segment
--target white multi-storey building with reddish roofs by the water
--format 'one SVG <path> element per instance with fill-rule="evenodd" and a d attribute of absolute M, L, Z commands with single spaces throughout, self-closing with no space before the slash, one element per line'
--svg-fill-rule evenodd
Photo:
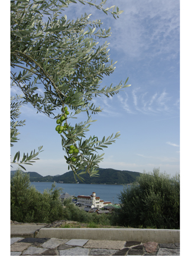
<path fill-rule="evenodd" d="M 77 203 L 79 203 L 81 206 L 88 206 L 91 208 L 102 208 L 103 206 L 112 204 L 110 201 L 100 200 L 100 197 L 96 197 L 95 192 L 93 192 L 91 196 L 77 196 Z"/>

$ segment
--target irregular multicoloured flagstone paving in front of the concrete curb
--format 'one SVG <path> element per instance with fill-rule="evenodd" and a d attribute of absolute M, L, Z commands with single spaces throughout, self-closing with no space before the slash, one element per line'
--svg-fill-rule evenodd
<path fill-rule="evenodd" d="M 180 255 L 180 243 L 12 237 L 11 255 Z"/>

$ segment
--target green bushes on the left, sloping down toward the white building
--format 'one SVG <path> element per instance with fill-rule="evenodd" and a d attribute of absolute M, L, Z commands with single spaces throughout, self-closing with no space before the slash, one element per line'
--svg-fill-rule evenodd
<path fill-rule="evenodd" d="M 11 220 L 17 222 L 51 223 L 55 220 L 74 220 L 83 223 L 110 225 L 105 214 L 87 213 L 66 199 L 61 203 L 60 188 L 44 190 L 41 194 L 30 184 L 29 174 L 18 170 L 11 178 Z M 65 207 L 63 207 L 65 206 Z"/>

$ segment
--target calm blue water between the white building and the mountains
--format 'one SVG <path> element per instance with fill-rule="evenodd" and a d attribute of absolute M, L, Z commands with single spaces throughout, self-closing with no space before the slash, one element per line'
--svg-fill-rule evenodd
<path fill-rule="evenodd" d="M 51 188 L 52 183 L 32 182 L 35 188 L 43 193 L 47 188 Z M 71 196 L 90 196 L 92 192 L 101 200 L 111 201 L 111 203 L 119 203 L 118 194 L 123 190 L 124 185 L 101 185 L 101 184 L 64 184 L 56 183 L 56 188 L 63 188 L 63 193 L 69 193 Z"/>

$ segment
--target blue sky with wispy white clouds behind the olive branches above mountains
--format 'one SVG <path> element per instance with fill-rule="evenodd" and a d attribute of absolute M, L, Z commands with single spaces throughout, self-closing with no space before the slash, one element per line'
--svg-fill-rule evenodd
<path fill-rule="evenodd" d="M 174 175 L 180 172 L 180 3 L 109 0 L 105 7 L 116 4 L 124 11 L 117 20 L 80 3 L 70 4 L 63 13 L 72 20 L 86 12 L 92 14 L 91 20 L 100 18 L 102 28 L 111 27 L 112 36 L 106 39 L 110 43 L 109 57 L 118 62 L 115 72 L 104 77 L 101 86 L 115 86 L 127 78 L 131 84 L 114 97 L 103 95 L 93 100 L 103 111 L 92 115 L 97 121 L 90 126 L 87 137 L 102 139 L 121 133 L 104 149 L 100 168 L 141 173 L 160 168 Z M 18 88 L 12 89 L 11 95 L 15 93 L 20 94 Z M 25 165 L 27 171 L 43 176 L 64 174 L 68 170 L 61 137 L 55 131 L 56 120 L 36 112 L 30 104 L 21 107 L 20 119 L 26 122 L 19 130 L 20 140 L 11 148 L 11 156 L 43 146 L 40 160 Z M 80 114 L 77 122 L 85 120 L 86 114 Z M 76 120 L 71 122 L 75 124 Z M 17 169 L 17 165 L 12 166 L 11 170 Z"/>

